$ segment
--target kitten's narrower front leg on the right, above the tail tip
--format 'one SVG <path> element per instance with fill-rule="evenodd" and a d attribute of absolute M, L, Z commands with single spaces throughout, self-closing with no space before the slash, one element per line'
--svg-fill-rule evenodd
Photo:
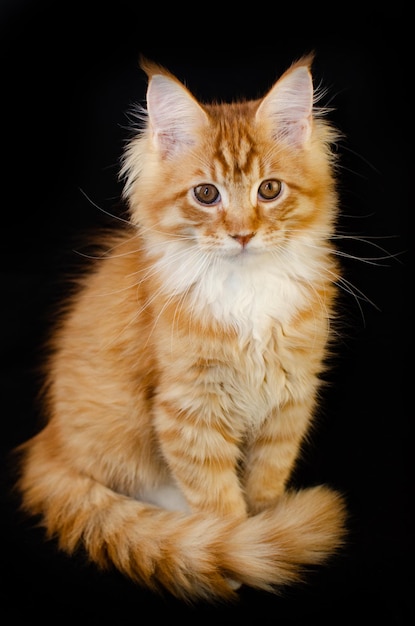
<path fill-rule="evenodd" d="M 248 445 L 244 490 L 250 514 L 274 506 L 299 455 L 313 402 L 289 402 L 274 409 Z"/>

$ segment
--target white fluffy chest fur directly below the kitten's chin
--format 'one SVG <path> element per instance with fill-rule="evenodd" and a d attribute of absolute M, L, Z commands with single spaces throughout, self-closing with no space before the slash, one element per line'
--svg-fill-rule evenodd
<path fill-rule="evenodd" d="M 178 246 L 179 248 L 179 246 Z M 188 294 L 197 315 L 212 315 L 237 328 L 244 337 L 261 341 L 270 320 L 287 323 L 304 304 L 301 284 L 305 266 L 291 255 L 278 263 L 271 254 L 216 257 L 169 246 L 158 261 L 165 289 Z M 302 280 L 298 280 L 302 279 Z"/>

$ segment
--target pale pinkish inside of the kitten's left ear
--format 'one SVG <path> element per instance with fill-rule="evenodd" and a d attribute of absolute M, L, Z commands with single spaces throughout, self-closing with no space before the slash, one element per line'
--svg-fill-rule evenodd
<path fill-rule="evenodd" d="M 208 123 L 205 111 L 186 87 L 164 73 L 150 77 L 147 112 L 153 141 L 164 158 L 187 150 Z"/>

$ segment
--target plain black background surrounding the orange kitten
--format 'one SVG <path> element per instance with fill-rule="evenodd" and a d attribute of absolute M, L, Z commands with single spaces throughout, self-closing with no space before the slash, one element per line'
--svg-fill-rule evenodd
<path fill-rule="evenodd" d="M 299 6 L 234 11 L 226 16 L 224 6 L 209 4 L 181 15 L 122 0 L 0 2 L 5 624 L 407 624 L 414 616 L 411 18 L 396 3 L 393 13 L 341 5 L 335 15 L 305 15 Z M 331 384 L 295 481 L 327 482 L 345 493 L 349 544 L 309 585 L 281 597 L 242 589 L 235 606 L 189 607 L 44 542 L 10 493 L 9 452 L 41 418 L 36 367 L 63 295 L 61 277 L 80 263 L 74 250 L 88 233 L 111 223 L 107 213 L 123 215 L 119 159 L 130 136 L 128 112 L 146 89 L 139 54 L 166 65 L 201 99 L 229 100 L 262 95 L 311 50 L 316 84 L 328 89 L 323 104 L 333 107 L 330 118 L 344 134 L 339 232 L 346 237 L 339 247 L 352 286 L 342 300 Z"/>

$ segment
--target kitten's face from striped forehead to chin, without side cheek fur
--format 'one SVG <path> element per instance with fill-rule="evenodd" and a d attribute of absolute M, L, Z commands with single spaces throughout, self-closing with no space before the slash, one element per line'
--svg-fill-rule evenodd
<path fill-rule="evenodd" d="M 209 141 L 192 160 L 178 210 L 184 230 L 206 252 L 267 252 L 310 220 L 313 203 L 300 155 L 276 148 L 247 107 L 222 107 L 220 123 L 212 124 Z"/>

